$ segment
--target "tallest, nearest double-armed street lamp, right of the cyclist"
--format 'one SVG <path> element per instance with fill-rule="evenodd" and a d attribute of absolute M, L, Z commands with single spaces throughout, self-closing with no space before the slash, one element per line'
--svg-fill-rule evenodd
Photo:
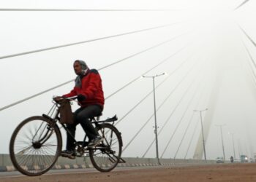
<path fill-rule="evenodd" d="M 159 165 L 161 165 L 161 163 L 159 162 L 159 155 L 158 155 L 158 139 L 157 139 L 157 111 L 156 111 L 156 93 L 155 93 L 155 86 L 154 86 L 154 79 L 157 76 L 162 76 L 165 75 L 166 73 L 162 73 L 162 74 L 157 74 L 155 76 L 143 76 L 143 78 L 151 78 L 153 79 L 153 92 L 154 92 L 154 133 L 156 135 L 156 151 L 157 151 L 157 162 Z"/>

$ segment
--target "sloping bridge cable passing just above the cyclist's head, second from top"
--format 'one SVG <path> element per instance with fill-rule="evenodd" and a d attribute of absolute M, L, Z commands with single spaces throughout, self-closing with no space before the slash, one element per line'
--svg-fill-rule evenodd
<path fill-rule="evenodd" d="M 126 36 L 126 35 L 129 35 L 129 34 L 132 34 L 132 33 L 140 33 L 140 32 L 143 32 L 143 31 L 151 31 L 151 30 L 155 30 L 155 29 L 158 29 L 158 28 L 165 28 L 165 27 L 168 27 L 170 25 L 176 25 L 176 24 L 184 23 L 184 22 L 186 22 L 186 21 L 181 21 L 181 22 L 178 22 L 178 23 L 170 23 L 170 24 L 167 24 L 167 25 L 159 25 L 159 26 L 156 26 L 156 27 L 140 29 L 138 31 L 129 31 L 129 32 L 126 32 L 126 33 L 119 33 L 119 34 L 112 35 L 112 36 L 102 36 L 102 37 L 99 37 L 97 39 L 89 39 L 89 40 L 86 40 L 86 41 L 78 41 L 78 42 L 71 43 L 71 44 L 64 44 L 64 45 L 59 45 L 59 46 L 55 46 L 55 47 L 48 47 L 48 48 L 40 49 L 40 50 L 31 50 L 31 51 L 28 51 L 28 52 L 20 52 L 20 53 L 16 53 L 16 54 L 13 54 L 13 55 L 4 55 L 4 56 L 0 57 L 0 60 L 5 59 L 5 58 L 13 58 L 13 57 L 17 57 L 17 56 L 20 56 L 20 55 L 29 55 L 29 54 L 32 54 L 32 53 L 35 53 L 35 52 L 55 50 L 55 49 L 59 49 L 59 48 L 62 48 L 62 47 L 69 47 L 69 46 L 78 45 L 78 44 L 85 44 L 85 43 L 88 43 L 88 42 L 91 42 L 91 41 L 99 41 L 99 40 L 110 39 L 110 38 L 114 38 L 114 37 L 118 37 L 118 36 Z"/>

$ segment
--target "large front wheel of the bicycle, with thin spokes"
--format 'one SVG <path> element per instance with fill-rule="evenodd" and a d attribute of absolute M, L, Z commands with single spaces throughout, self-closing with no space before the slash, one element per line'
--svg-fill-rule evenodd
<path fill-rule="evenodd" d="M 46 173 L 61 152 L 61 132 L 42 116 L 32 116 L 21 122 L 12 134 L 10 158 L 14 167 L 24 175 Z"/>

